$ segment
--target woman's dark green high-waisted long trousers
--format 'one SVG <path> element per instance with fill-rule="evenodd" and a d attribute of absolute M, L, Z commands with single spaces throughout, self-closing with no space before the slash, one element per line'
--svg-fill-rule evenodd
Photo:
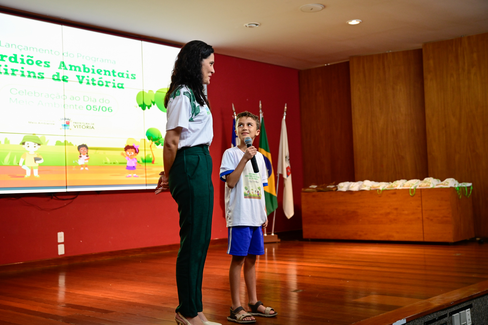
<path fill-rule="evenodd" d="M 178 150 L 169 173 L 171 196 L 180 212 L 180 250 L 176 258 L 177 312 L 195 317 L 203 310 L 202 278 L 212 230 L 212 158 L 208 146 Z"/>

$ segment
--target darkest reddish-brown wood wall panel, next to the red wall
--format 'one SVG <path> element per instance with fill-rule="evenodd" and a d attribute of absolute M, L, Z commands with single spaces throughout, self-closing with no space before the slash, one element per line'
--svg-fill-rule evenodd
<path fill-rule="evenodd" d="M 304 186 L 354 180 L 349 62 L 300 71 Z"/>

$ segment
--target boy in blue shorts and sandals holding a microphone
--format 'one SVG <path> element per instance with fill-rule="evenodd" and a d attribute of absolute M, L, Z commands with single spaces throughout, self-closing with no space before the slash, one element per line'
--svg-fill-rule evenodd
<path fill-rule="evenodd" d="M 254 146 L 247 147 L 244 139 L 252 140 L 259 135 L 258 117 L 247 111 L 237 114 L 236 134 L 241 139 L 237 147 L 225 150 L 220 167 L 221 180 L 225 182 L 225 220 L 228 228 L 227 254 L 232 255 L 229 268 L 232 307 L 229 321 L 239 324 L 255 323 L 253 316 L 273 317 L 277 313 L 264 307 L 256 297 L 256 255 L 264 254 L 263 231 L 268 224 L 264 198 L 256 195 L 267 186 L 266 165 L 261 153 Z M 259 172 L 254 173 L 251 158 L 256 157 Z M 241 268 L 244 264 L 244 280 L 247 287 L 250 312 L 241 306 Z"/>

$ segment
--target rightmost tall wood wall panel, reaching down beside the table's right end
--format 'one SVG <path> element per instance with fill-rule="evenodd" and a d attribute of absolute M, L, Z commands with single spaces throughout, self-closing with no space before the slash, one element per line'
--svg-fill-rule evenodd
<path fill-rule="evenodd" d="M 488 237 L 488 33 L 423 53 L 429 175 L 473 183 L 475 233 Z"/>

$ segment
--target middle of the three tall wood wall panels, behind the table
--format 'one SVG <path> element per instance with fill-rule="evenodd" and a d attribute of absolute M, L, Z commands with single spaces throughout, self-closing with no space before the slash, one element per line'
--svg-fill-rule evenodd
<path fill-rule="evenodd" d="M 357 181 L 427 177 L 422 50 L 350 59 Z"/>

